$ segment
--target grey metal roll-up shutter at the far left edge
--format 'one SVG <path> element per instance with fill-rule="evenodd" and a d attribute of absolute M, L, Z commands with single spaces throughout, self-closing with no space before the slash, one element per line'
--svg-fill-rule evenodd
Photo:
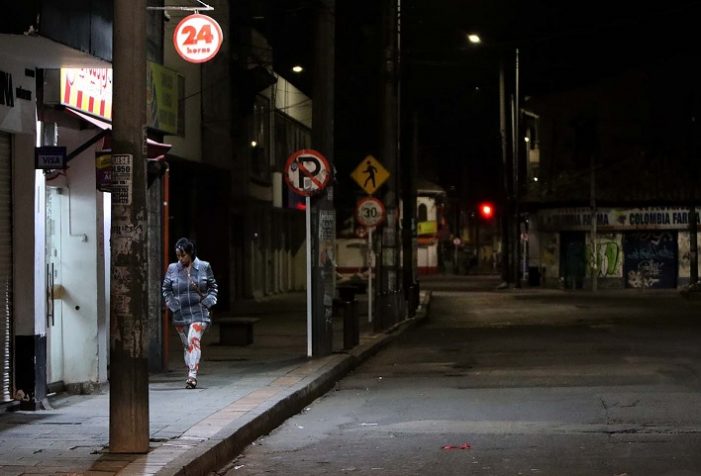
<path fill-rule="evenodd" d="M 0 402 L 12 399 L 12 160 L 10 135 L 0 132 Z"/>

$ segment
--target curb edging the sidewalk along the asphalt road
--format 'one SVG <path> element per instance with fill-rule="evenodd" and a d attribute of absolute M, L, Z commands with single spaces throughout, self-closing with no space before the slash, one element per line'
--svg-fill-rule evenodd
<path fill-rule="evenodd" d="M 393 342 L 407 329 L 411 329 L 428 317 L 431 292 L 428 291 L 419 305 L 416 316 L 392 326 L 380 334 L 377 340 L 363 343 L 348 354 L 325 357 L 329 360 L 317 374 L 306 382 L 300 382 L 276 402 L 266 403 L 267 408 L 256 409 L 244 415 L 192 450 L 169 462 L 160 471 L 163 476 L 197 476 L 225 466 L 262 435 L 270 433 L 288 418 L 301 412 L 314 400 L 331 390 L 336 382 L 351 370 Z"/>

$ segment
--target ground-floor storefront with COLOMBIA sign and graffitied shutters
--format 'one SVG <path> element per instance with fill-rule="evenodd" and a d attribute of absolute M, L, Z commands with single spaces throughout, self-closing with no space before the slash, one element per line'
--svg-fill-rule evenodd
<path fill-rule="evenodd" d="M 698 215 L 698 213 L 697 213 Z M 667 288 L 690 276 L 689 211 L 681 207 L 602 208 L 592 240 L 586 208 L 541 210 L 529 235 L 548 287 Z M 698 219 L 698 218 L 697 218 Z"/>

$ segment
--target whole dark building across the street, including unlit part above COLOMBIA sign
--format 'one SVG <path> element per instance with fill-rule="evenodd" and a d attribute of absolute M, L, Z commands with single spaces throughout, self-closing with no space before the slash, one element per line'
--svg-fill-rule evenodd
<path fill-rule="evenodd" d="M 688 61 L 529 99 L 520 198 L 531 284 L 689 284 L 701 137 Z"/>

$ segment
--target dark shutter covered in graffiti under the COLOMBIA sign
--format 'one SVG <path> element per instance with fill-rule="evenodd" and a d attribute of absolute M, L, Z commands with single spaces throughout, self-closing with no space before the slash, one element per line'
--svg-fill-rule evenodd
<path fill-rule="evenodd" d="M 676 286 L 677 241 L 669 231 L 628 233 L 623 241 L 623 271 L 631 288 Z"/>

